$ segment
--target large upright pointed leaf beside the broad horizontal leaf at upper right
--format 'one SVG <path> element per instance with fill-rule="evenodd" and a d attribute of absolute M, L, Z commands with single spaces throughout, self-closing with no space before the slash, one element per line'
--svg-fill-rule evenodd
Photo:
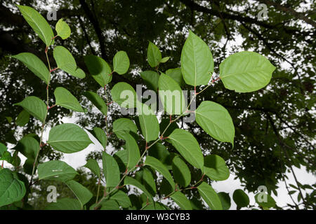
<path fill-rule="evenodd" d="M 211 50 L 199 36 L 190 31 L 181 52 L 181 71 L 188 85 L 207 85 L 213 73 Z"/>

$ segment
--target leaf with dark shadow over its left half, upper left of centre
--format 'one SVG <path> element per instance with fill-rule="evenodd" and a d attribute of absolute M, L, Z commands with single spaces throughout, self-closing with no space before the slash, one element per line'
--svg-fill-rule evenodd
<path fill-rule="evenodd" d="M 101 87 L 105 87 L 107 83 L 111 82 L 112 70 L 104 59 L 95 55 L 88 55 L 84 57 L 84 63 L 86 63 L 91 76 Z"/>

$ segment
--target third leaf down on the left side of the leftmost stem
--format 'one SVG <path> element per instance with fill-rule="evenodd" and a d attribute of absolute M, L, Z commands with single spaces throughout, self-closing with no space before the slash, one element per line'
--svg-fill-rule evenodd
<path fill-rule="evenodd" d="M 22 108 L 30 115 L 44 123 L 47 107 L 46 104 L 38 97 L 26 97 L 22 100 L 22 102 L 13 105 L 22 106 Z"/>

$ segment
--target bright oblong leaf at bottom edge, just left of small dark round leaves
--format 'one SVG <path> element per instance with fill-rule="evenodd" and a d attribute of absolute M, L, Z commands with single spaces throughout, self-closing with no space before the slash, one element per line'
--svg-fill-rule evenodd
<path fill-rule="evenodd" d="M 209 205 L 211 210 L 222 210 L 222 203 L 215 190 L 207 183 L 202 182 L 198 187 L 199 195 L 202 196 L 206 204 Z"/>

